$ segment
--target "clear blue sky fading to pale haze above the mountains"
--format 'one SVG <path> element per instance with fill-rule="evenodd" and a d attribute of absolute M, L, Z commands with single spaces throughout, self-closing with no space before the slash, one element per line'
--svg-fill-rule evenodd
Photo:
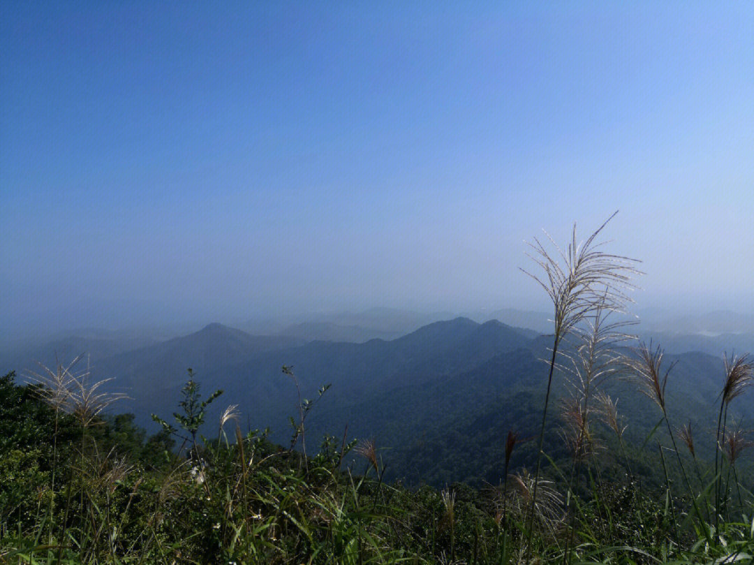
<path fill-rule="evenodd" d="M 0 329 L 547 310 L 611 213 L 637 305 L 754 312 L 747 2 L 0 5 Z"/>

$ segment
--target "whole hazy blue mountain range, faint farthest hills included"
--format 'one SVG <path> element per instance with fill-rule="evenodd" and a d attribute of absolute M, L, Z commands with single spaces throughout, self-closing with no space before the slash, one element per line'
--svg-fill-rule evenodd
<path fill-rule="evenodd" d="M 542 335 L 547 315 L 512 309 L 494 314 L 529 327 L 468 317 L 432 321 L 432 315 L 375 309 L 297 324 L 281 321 L 271 324 L 268 335 L 217 323 L 171 339 L 86 330 L 5 348 L 0 371 L 23 376 L 38 370 L 37 361 L 54 367 L 85 353 L 78 368 L 89 367 L 93 379 L 113 377 L 108 386 L 130 397 L 113 409 L 134 413 L 136 422 L 154 430 L 150 415 L 168 417 L 176 410 L 191 367 L 204 395 L 225 391 L 211 405 L 204 434 L 215 435 L 211 422 L 228 404 L 238 404 L 241 428 L 269 427 L 274 441 L 287 444 L 288 417 L 296 413 L 298 398 L 295 383 L 281 372 L 286 365 L 304 398 L 317 398 L 318 388 L 331 385 L 307 421 L 312 444 L 323 434 L 373 438 L 385 447 L 391 477 L 412 484 L 478 483 L 496 480 L 508 430 L 535 433 L 546 383 L 541 359 L 550 346 Z M 711 421 L 719 394 L 722 352 L 754 350 L 745 316 L 731 316 L 735 332 L 713 335 L 724 318 L 714 312 L 687 317 L 672 333 L 663 325 L 656 330 L 640 325 L 637 332 L 664 346 L 667 363 L 676 362 L 668 386 L 671 410 L 678 421 L 700 422 L 700 429 Z M 641 441 L 656 421 L 654 407 L 626 382 L 608 390 L 620 400 L 627 433 Z M 554 394 L 568 394 L 562 379 L 556 379 Z M 740 416 L 750 421 L 751 407 L 749 393 L 738 404 Z M 559 446 L 550 448 L 557 453 Z M 522 462 L 528 450 L 521 450 Z"/>

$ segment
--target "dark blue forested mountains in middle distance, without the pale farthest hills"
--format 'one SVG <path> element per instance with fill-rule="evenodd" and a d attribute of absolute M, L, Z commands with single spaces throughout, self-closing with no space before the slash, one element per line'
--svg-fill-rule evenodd
<path fill-rule="evenodd" d="M 311 412 L 310 444 L 323 434 L 342 434 L 348 426 L 349 436 L 373 438 L 386 448 L 391 477 L 409 484 L 478 484 L 499 474 L 499 438 L 509 430 L 524 436 L 535 432 L 546 378 L 539 359 L 547 357 L 550 338 L 532 335 L 499 321 L 478 324 L 468 318 L 364 343 L 252 336 L 210 324 L 132 351 L 100 353 L 91 366 L 95 378 L 114 377 L 112 390 L 129 395 L 117 410 L 134 413 L 136 422 L 149 429 L 155 429 L 150 414 L 167 416 L 175 410 L 186 369 L 192 367 L 204 392 L 225 391 L 208 422 L 228 404 L 238 404 L 244 428 L 269 426 L 271 438 L 285 444 L 288 416 L 296 413 L 297 403 L 295 384 L 280 370 L 287 365 L 303 398 L 332 385 Z M 668 385 L 673 420 L 694 422 L 700 433 L 711 434 L 722 382 L 720 358 L 703 352 L 667 356 L 668 364 L 674 361 Z M 555 398 L 568 394 L 562 382 L 556 374 Z M 641 444 L 657 422 L 656 407 L 631 383 L 613 382 L 608 391 L 627 419 L 627 438 Z M 750 418 L 749 398 L 734 409 Z M 210 425 L 204 433 L 213 434 Z M 557 452 L 557 442 L 550 447 Z M 700 449 L 704 453 L 705 447 Z M 529 447 L 523 447 L 516 464 L 526 465 L 530 456 Z"/>

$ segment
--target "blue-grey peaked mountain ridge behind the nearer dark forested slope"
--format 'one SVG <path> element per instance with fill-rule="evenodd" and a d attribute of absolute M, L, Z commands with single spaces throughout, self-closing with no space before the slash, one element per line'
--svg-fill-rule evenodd
<path fill-rule="evenodd" d="M 118 410 L 133 411 L 149 425 L 149 413 L 170 413 L 192 367 L 206 391 L 223 388 L 258 425 L 284 422 L 295 407 L 293 384 L 280 367 L 293 366 L 302 391 L 311 396 L 332 382 L 323 403 L 350 401 L 369 391 L 421 383 L 467 370 L 501 352 L 525 347 L 529 336 L 489 321 L 467 318 L 436 322 L 406 336 L 364 343 L 305 342 L 290 336 L 251 336 L 222 324 L 93 364 L 95 378 L 115 377 L 114 387 L 131 397 Z"/>

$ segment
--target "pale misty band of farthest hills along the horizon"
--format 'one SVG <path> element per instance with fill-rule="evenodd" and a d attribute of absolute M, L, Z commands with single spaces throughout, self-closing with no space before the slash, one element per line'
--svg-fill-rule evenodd
<path fill-rule="evenodd" d="M 222 322 L 252 336 L 295 337 L 302 341 L 367 342 L 389 341 L 404 336 L 435 321 L 469 318 L 477 323 L 498 320 L 516 327 L 530 337 L 552 331 L 552 315 L 520 309 L 497 309 L 488 312 L 412 312 L 391 308 L 372 308 L 363 312 L 334 314 L 285 315 L 277 318 L 254 318 Z M 633 327 L 641 339 L 658 342 L 668 352 L 701 351 L 710 355 L 723 352 L 754 351 L 754 315 L 716 311 L 703 314 L 672 315 L 662 310 L 644 310 Z M 187 336 L 213 324 L 165 323 L 161 326 L 130 327 L 111 330 L 81 327 L 55 333 L 38 330 L 34 336 L 11 336 L 0 341 L 0 363 L 19 370 L 35 364 L 53 364 L 55 355 L 64 361 L 86 353 L 91 360 L 167 342 Z"/>

